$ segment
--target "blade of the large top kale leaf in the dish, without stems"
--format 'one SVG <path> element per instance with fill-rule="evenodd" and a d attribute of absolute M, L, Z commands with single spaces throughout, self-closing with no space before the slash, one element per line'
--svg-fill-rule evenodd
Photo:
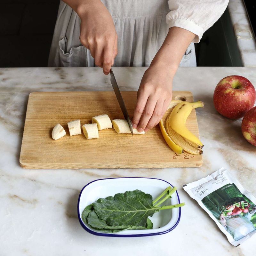
<path fill-rule="evenodd" d="M 109 226 L 146 227 L 148 217 L 161 207 L 153 206 L 151 195 L 134 190 L 100 198 L 93 203 L 93 208 Z"/>

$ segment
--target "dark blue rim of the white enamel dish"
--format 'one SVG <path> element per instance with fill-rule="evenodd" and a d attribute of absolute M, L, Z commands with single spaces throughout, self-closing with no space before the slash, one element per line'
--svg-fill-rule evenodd
<path fill-rule="evenodd" d="M 156 178 L 147 178 L 147 177 L 120 177 L 120 178 L 106 178 L 106 179 L 98 179 L 98 180 L 112 180 L 112 179 L 134 179 L 134 178 L 139 178 L 139 179 L 153 179 L 153 180 L 162 180 L 162 179 L 156 179 Z M 88 185 L 90 185 L 92 182 L 95 182 L 95 181 L 98 181 L 98 180 L 93 180 L 91 182 L 89 182 L 88 184 L 86 184 L 84 186 L 84 188 L 86 188 Z M 166 180 L 162 180 L 168 184 L 170 184 L 172 186 L 171 183 L 169 183 L 168 181 Z M 170 231 L 172 231 L 174 228 L 177 227 L 177 225 L 179 224 L 180 222 L 180 215 L 181 215 L 181 207 L 179 207 L 179 217 L 178 217 L 178 220 L 176 221 L 176 223 L 169 229 L 165 230 L 165 231 L 162 231 L 162 232 L 156 232 L 156 233 L 148 233 L 148 234 L 131 234 L 131 235 L 118 235 L 118 233 L 116 234 L 113 234 L 113 233 L 99 233 L 99 232 L 95 232 L 89 228 L 87 228 L 85 225 L 84 225 L 84 222 L 83 220 L 80 218 L 80 212 L 79 212 L 79 202 L 80 202 L 80 197 L 82 195 L 82 192 L 84 191 L 84 188 L 82 188 L 80 194 L 79 194 L 79 197 L 78 197 L 78 202 L 77 202 L 77 215 L 78 215 L 78 219 L 79 219 L 79 222 L 81 224 L 81 226 L 89 233 L 95 235 L 95 236 L 115 236 L 115 237 L 138 237 L 138 236 L 156 236 L 156 235 L 162 235 L 162 234 L 166 234 Z M 172 186 L 173 188 L 173 186 Z M 179 194 L 176 190 L 176 194 L 177 194 L 177 197 L 178 197 L 178 202 L 180 204 L 180 197 L 179 197 Z"/>

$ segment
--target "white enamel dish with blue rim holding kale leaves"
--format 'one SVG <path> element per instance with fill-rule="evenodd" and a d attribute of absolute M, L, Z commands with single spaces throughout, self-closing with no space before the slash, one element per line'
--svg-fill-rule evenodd
<path fill-rule="evenodd" d="M 153 200 L 159 196 L 168 186 L 173 187 L 169 182 L 154 178 L 110 178 L 94 180 L 88 183 L 81 190 L 77 211 L 78 219 L 81 226 L 89 233 L 96 236 L 155 236 L 170 232 L 178 225 L 180 221 L 181 209 L 173 208 L 156 212 L 153 217 L 149 217 L 153 222 L 153 229 L 144 230 L 124 230 L 117 233 L 103 233 L 96 229 L 90 228 L 82 220 L 82 212 L 84 208 L 92 204 L 99 198 L 114 196 L 116 193 L 124 193 L 125 191 L 140 189 L 141 191 L 151 194 Z M 164 202 L 165 205 L 179 204 L 180 198 L 178 192 L 172 195 L 172 198 Z"/>

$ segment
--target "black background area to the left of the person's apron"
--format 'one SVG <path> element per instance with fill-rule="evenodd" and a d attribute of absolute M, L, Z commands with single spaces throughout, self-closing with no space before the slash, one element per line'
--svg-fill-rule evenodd
<path fill-rule="evenodd" d="M 60 0 L 0 0 L 0 67 L 47 67 Z"/>

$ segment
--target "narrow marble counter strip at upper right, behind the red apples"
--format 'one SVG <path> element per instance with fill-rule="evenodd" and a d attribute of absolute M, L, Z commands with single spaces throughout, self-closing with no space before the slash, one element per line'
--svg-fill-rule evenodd
<path fill-rule="evenodd" d="M 256 42 L 243 0 L 229 0 L 228 10 L 244 67 L 256 67 Z"/>

